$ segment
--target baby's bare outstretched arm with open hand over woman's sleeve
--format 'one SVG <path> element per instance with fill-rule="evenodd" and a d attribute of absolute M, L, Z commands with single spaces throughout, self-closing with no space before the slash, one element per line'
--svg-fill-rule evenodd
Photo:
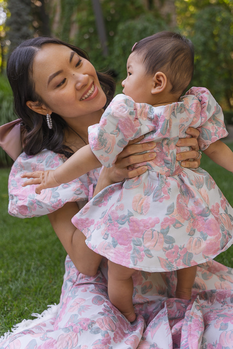
<path fill-rule="evenodd" d="M 80 148 L 56 170 L 26 172 L 21 175 L 26 180 L 22 186 L 38 184 L 35 192 L 41 193 L 42 189 L 54 188 L 62 183 L 68 183 L 83 174 L 101 167 L 101 163 L 92 153 L 89 144 Z"/>

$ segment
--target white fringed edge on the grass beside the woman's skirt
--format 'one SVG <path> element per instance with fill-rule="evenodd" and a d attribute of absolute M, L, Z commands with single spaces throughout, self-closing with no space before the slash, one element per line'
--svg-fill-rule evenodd
<path fill-rule="evenodd" d="M 19 333 L 21 331 L 25 331 L 26 329 L 29 329 L 30 327 L 38 325 L 40 322 L 46 321 L 50 318 L 53 318 L 57 315 L 59 304 L 51 304 L 47 305 L 48 309 L 45 309 L 41 314 L 38 313 L 32 313 L 31 316 L 34 316 L 37 319 L 24 319 L 19 324 L 14 325 L 14 327 L 11 329 L 12 332 L 8 330 L 5 334 L 3 334 L 0 337 L 0 343 L 8 339 L 8 337 L 12 336 L 13 334 Z"/>

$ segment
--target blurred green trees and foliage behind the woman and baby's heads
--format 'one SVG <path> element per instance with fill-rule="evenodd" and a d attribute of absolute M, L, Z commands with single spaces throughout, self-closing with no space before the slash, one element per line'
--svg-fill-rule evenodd
<path fill-rule="evenodd" d="M 98 1 L 102 16 L 96 18 L 93 4 Z M 117 82 L 125 78 L 135 42 L 161 30 L 179 31 L 195 46 L 192 86 L 209 88 L 226 122 L 233 123 L 232 0 L 0 0 L 0 14 L 1 8 L 8 16 L 0 23 L 3 58 L 27 37 L 52 35 L 85 49 L 96 69 L 109 70 Z M 104 25 L 104 42 L 98 23 Z M 0 94 L 1 110 L 5 98 Z M 8 108 L 8 120 L 14 117 Z"/>

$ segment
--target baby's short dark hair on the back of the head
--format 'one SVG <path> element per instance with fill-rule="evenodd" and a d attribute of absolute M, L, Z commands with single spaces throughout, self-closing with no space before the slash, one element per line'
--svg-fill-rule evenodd
<path fill-rule="evenodd" d="M 162 72 L 173 94 L 182 95 L 194 72 L 194 46 L 178 33 L 162 31 L 140 40 L 132 50 L 142 59 L 146 74 Z"/>

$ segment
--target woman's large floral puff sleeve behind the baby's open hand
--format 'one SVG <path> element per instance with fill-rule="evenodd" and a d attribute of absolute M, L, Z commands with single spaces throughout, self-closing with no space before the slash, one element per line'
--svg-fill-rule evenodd
<path fill-rule="evenodd" d="M 99 173 L 96 170 L 90 171 L 88 176 L 85 174 L 70 183 L 43 190 L 39 195 L 35 193 L 36 185 L 21 186 L 26 180 L 20 177 L 22 173 L 54 170 L 65 160 L 64 155 L 56 154 L 47 149 L 35 156 L 22 153 L 14 162 L 9 174 L 9 214 L 20 218 L 37 217 L 56 211 L 66 202 L 87 201 L 89 187 L 97 182 Z"/>

